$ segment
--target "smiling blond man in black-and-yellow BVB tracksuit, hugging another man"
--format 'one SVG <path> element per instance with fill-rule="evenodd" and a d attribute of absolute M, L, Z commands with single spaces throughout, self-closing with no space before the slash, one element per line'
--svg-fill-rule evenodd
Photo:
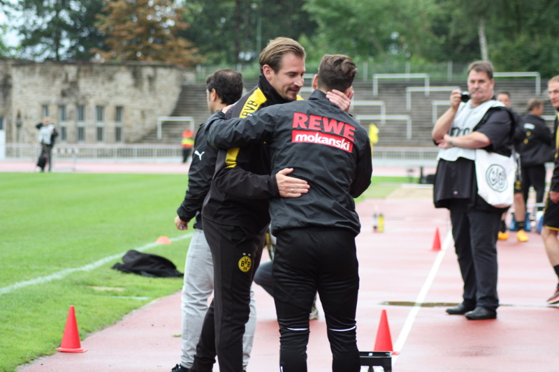
<path fill-rule="evenodd" d="M 227 119 L 248 117 L 263 107 L 300 98 L 305 73 L 305 49 L 290 38 L 276 38 L 260 55 L 261 75 L 254 89 L 227 112 Z M 349 98 L 331 94 L 344 110 Z M 250 288 L 259 266 L 270 223 L 268 198 L 298 198 L 307 181 L 285 177 L 286 168 L 270 175 L 266 144 L 220 150 L 212 185 L 202 209 L 203 230 L 214 265 L 214 299 L 206 313 L 194 364 L 189 372 L 210 372 L 219 361 L 221 372 L 242 371 L 242 335 L 249 318 Z M 308 318 L 308 313 L 307 313 Z"/>

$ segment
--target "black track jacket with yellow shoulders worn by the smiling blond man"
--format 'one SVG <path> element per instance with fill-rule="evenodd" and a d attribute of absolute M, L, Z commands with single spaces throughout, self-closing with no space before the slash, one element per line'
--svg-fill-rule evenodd
<path fill-rule="evenodd" d="M 263 107 L 280 103 L 287 101 L 260 75 L 258 86 L 242 96 L 226 117 L 247 117 Z M 206 123 L 208 125 L 210 119 Z M 217 154 L 203 217 L 222 225 L 242 226 L 259 232 L 270 223 L 268 198 L 279 195 L 275 175 L 270 176 L 268 146 L 259 142 L 242 148 L 222 149 L 227 150 Z"/>

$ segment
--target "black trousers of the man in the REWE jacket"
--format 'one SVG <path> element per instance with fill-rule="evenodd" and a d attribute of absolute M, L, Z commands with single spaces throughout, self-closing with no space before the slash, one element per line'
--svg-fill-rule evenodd
<path fill-rule="evenodd" d="M 357 372 L 355 234 L 347 229 L 290 229 L 277 234 L 273 262 L 282 372 L 307 371 L 309 313 L 317 290 L 324 308 L 333 372 Z"/>

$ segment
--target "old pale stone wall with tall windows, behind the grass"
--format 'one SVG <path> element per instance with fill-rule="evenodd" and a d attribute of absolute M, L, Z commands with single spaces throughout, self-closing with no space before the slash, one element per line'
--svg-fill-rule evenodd
<path fill-rule="evenodd" d="M 157 125 L 157 117 L 173 112 L 182 83 L 188 79 L 180 67 L 141 62 L 15 61 L 8 73 L 3 73 L 2 66 L 0 61 L 0 79 L 10 75 L 11 80 L 6 140 L 13 143 L 35 142 L 35 125 L 47 110 L 59 132 L 66 127 L 69 144 L 117 143 L 117 127 L 122 128 L 120 142 L 136 142 Z M 0 110 L 2 104 L 0 101 Z M 80 122 L 78 107 L 83 112 Z M 122 113 L 119 123 L 117 107 Z M 22 122 L 19 140 L 15 128 L 18 114 Z M 78 138 L 78 127 L 83 128 L 83 140 Z"/>

